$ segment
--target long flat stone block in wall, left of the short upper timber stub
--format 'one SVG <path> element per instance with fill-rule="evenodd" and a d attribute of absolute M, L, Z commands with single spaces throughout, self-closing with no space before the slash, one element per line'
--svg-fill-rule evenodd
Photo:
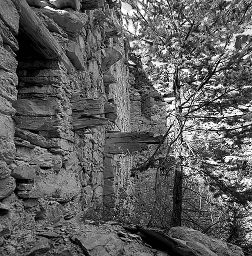
<path fill-rule="evenodd" d="M 62 112 L 60 100 L 54 97 L 47 98 L 18 98 L 13 103 L 17 115 L 50 116 Z"/>

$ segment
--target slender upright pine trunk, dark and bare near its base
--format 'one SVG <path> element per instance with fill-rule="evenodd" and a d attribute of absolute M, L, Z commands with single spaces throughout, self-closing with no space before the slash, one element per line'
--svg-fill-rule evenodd
<path fill-rule="evenodd" d="M 182 134 L 182 109 L 180 96 L 180 82 L 179 82 L 179 68 L 176 67 L 173 78 L 173 93 L 175 97 L 175 130 L 178 133 L 175 135 L 176 143 L 174 145 L 175 156 L 175 170 L 174 170 L 174 185 L 173 185 L 173 199 L 172 199 L 172 214 L 171 226 L 181 226 L 182 215 L 182 183 L 183 183 L 183 157 L 181 155 L 181 144 L 183 142 Z"/>

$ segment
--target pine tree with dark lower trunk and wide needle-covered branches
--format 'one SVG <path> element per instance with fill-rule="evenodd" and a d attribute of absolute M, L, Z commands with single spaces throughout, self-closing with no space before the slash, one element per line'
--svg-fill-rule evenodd
<path fill-rule="evenodd" d="M 250 37 L 240 34 L 251 24 L 252 2 L 126 2 L 135 9 L 127 17 L 135 27 L 130 33 L 135 47 L 166 64 L 174 95 L 166 154 L 172 151 L 175 160 L 171 226 L 181 224 L 183 186 L 188 190 L 193 176 L 200 176 L 212 197 L 226 196 L 236 212 L 241 197 L 245 205 L 251 195 L 243 178 L 250 175 L 252 47 Z"/>

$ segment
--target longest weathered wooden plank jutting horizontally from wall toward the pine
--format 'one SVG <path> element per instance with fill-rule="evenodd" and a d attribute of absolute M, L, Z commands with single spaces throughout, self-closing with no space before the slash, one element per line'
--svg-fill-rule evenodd
<path fill-rule="evenodd" d="M 120 154 L 147 149 L 148 144 L 160 143 L 162 136 L 153 137 L 152 132 L 106 133 L 104 152 Z"/>

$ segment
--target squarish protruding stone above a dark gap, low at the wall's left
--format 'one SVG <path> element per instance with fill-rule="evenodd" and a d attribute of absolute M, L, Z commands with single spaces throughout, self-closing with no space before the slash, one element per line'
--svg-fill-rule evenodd
<path fill-rule="evenodd" d="M 13 168 L 11 175 L 16 179 L 34 179 L 36 171 L 40 168 L 37 165 L 29 165 L 26 162 L 18 162 Z"/>

